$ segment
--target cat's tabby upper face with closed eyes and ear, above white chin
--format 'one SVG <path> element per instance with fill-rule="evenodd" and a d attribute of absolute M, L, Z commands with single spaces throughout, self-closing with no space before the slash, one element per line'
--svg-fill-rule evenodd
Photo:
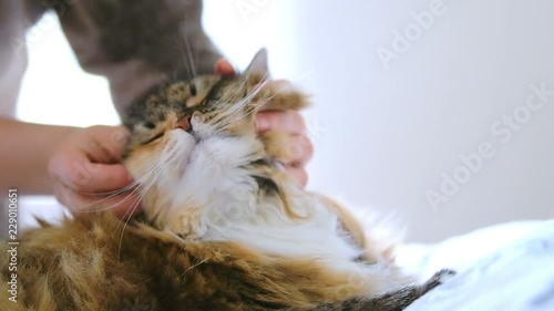
<path fill-rule="evenodd" d="M 214 136 L 252 134 L 254 111 L 264 104 L 254 101 L 267 73 L 267 53 L 259 51 L 243 74 L 202 75 L 175 82 L 133 105 L 124 121 L 131 131 L 127 155 L 167 146 L 174 136 L 196 142 Z"/>

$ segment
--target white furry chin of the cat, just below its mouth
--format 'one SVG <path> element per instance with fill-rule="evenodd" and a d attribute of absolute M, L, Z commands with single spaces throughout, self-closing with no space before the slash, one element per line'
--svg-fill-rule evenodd
<path fill-rule="evenodd" d="M 157 188 L 172 197 L 172 205 L 177 208 L 191 201 L 202 206 L 212 196 L 230 191 L 243 182 L 246 175 L 238 172 L 252 160 L 253 144 L 256 142 L 244 137 L 196 141 L 188 133 L 174 133 L 157 162 L 163 167 Z"/>

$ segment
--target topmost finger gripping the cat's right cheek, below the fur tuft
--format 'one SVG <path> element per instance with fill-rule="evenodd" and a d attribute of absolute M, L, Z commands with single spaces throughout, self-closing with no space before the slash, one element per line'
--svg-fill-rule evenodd
<path fill-rule="evenodd" d="M 256 129 L 264 133 L 271 129 L 301 134 L 306 128 L 301 114 L 297 111 L 263 111 L 256 114 Z"/>

